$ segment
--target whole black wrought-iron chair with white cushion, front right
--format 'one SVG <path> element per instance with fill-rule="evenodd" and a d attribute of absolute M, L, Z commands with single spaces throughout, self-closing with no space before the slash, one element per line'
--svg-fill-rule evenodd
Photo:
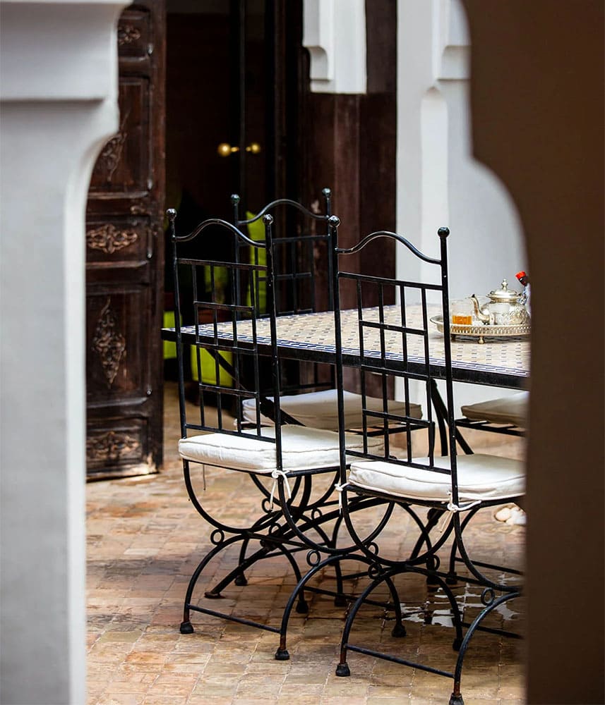
<path fill-rule="evenodd" d="M 437 377 L 445 379 L 446 399 L 445 409 L 448 426 L 447 456 L 436 456 L 429 448 L 426 458 L 415 458 L 409 444 L 401 450 L 393 446 L 389 429 L 394 424 L 407 429 L 412 424 L 412 419 L 406 414 L 395 414 L 388 409 L 386 399 L 383 409 L 376 412 L 364 408 L 364 437 L 366 429 L 377 425 L 383 427 L 383 450 L 376 450 L 364 446 L 361 452 L 353 450 L 348 453 L 350 469 L 347 470 L 347 460 L 341 446 L 341 471 L 340 491 L 342 492 L 342 511 L 349 534 L 357 544 L 357 550 L 365 556 L 370 564 L 368 571 L 370 582 L 362 591 L 349 611 L 345 628 L 342 633 L 340 663 L 336 673 L 347 676 L 350 673 L 347 655 L 350 651 L 360 654 L 369 654 L 377 658 L 387 659 L 405 666 L 412 666 L 419 670 L 429 671 L 453 680 L 453 692 L 450 705 L 462 704 L 460 680 L 462 665 L 469 646 L 470 639 L 478 630 L 484 627 L 484 620 L 498 606 L 515 598 L 520 594 L 517 570 L 510 570 L 508 578 L 503 580 L 501 572 L 506 570 L 501 566 L 480 562 L 472 558 L 472 546 L 465 543 L 463 533 L 470 517 L 481 508 L 492 507 L 505 501 L 517 500 L 525 491 L 525 474 L 522 463 L 507 458 L 497 458 L 491 455 L 457 455 L 456 452 L 456 424 L 453 400 L 452 361 L 450 354 L 450 339 L 445 335 L 443 346 L 445 353 L 445 367 L 438 367 L 429 355 L 429 312 L 431 298 L 435 297 L 443 309 L 444 329 L 449 327 L 449 302 L 448 302 L 448 264 L 447 264 L 447 228 L 440 228 L 438 235 L 441 241 L 440 257 L 429 257 L 419 252 L 412 243 L 395 233 L 379 231 L 371 233 L 361 242 L 348 250 L 337 247 L 335 238 L 335 326 L 337 341 L 337 388 L 342 380 L 343 369 L 353 366 L 359 369 L 362 383 L 369 375 L 378 375 L 384 380 L 383 388 L 387 388 L 386 381 L 390 377 L 402 380 L 405 400 L 409 398 L 409 383 L 419 380 L 426 388 L 426 405 L 430 410 L 431 386 Z M 424 262 L 423 271 L 433 270 L 436 273 L 433 283 L 419 281 L 404 281 L 388 277 L 361 276 L 347 270 L 347 256 L 361 252 L 366 247 L 376 246 L 389 238 L 399 243 L 399 246 L 409 255 Z M 406 252 L 409 251 L 409 252 Z M 359 323 L 359 355 L 352 355 L 350 341 L 347 349 L 342 341 L 340 324 L 340 288 L 352 286 L 357 291 L 357 310 Z M 370 288 L 378 290 L 378 307 L 364 309 L 364 294 Z M 395 297 L 393 297 L 393 291 Z M 389 298 L 390 293 L 390 298 Z M 415 309 L 407 307 L 412 299 L 417 298 Z M 395 306 L 388 307 L 384 304 L 387 300 L 397 302 Z M 415 313 L 414 313 L 415 311 Z M 420 341 L 416 346 L 421 353 L 410 353 L 412 341 Z M 362 388 L 363 396 L 363 388 Z M 342 400 L 342 396 L 341 396 Z M 342 416 L 342 405 L 340 406 Z M 427 420 L 427 429 L 431 433 L 431 413 Z M 418 423 L 414 420 L 414 423 Z M 373 436 L 375 437 L 375 436 Z M 355 457 L 357 456 L 357 457 Z M 399 556 L 393 551 L 389 553 L 386 546 L 387 539 L 383 533 L 375 535 L 371 540 L 366 537 L 366 527 L 359 529 L 356 515 L 351 511 L 354 501 L 360 497 L 372 497 L 384 502 L 394 503 L 404 513 L 412 518 L 412 526 L 416 527 L 418 539 L 407 555 Z M 428 510 L 427 518 L 421 513 Z M 441 533 L 433 532 L 434 521 L 432 517 L 443 517 L 446 520 Z M 463 520 L 462 517 L 465 516 Z M 393 527 L 395 515 L 390 518 L 387 526 Z M 452 546 L 448 546 L 452 539 Z M 446 551 L 447 549 L 447 551 Z M 450 556 L 448 568 L 441 570 L 441 552 Z M 460 556 L 457 558 L 456 556 Z M 458 568 L 467 572 L 461 576 Z M 458 651 L 453 670 L 441 670 L 422 663 L 416 654 L 407 658 L 402 657 L 402 640 L 396 637 L 405 637 L 404 615 L 401 603 L 405 595 L 400 596 L 401 588 L 396 586 L 403 575 L 421 575 L 438 589 L 450 606 L 450 616 L 454 627 L 453 647 Z M 484 608 L 472 623 L 463 622 L 462 608 L 457 603 L 452 589 L 452 583 L 464 580 L 474 584 L 482 590 L 481 600 Z M 372 603 L 375 591 L 380 593 L 386 587 L 390 594 L 390 609 L 393 611 L 395 626 L 392 635 L 392 649 L 387 650 L 385 644 L 381 647 L 368 648 L 353 642 L 352 629 L 361 608 Z M 465 630 L 466 627 L 466 630 Z M 491 630 L 491 627 L 488 629 Z M 494 631 L 494 630 L 491 630 Z M 508 634 L 502 630 L 498 633 Z M 513 635 L 511 635 L 513 636 Z M 383 650 L 384 648 L 384 650 Z M 444 654 L 447 661 L 448 654 Z"/>

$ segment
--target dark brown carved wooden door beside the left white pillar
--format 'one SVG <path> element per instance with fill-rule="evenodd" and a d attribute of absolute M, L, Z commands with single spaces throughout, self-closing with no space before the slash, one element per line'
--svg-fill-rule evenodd
<path fill-rule="evenodd" d="M 155 472 L 162 462 L 164 25 L 164 0 L 121 14 L 119 132 L 88 192 L 88 479 Z"/>

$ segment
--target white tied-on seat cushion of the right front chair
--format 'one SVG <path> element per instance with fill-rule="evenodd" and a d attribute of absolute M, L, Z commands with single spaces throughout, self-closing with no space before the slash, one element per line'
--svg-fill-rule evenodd
<path fill-rule="evenodd" d="M 449 467 L 448 457 L 435 458 L 437 467 Z M 428 458 L 414 462 L 428 464 Z M 460 502 L 493 500 L 525 494 L 525 470 L 520 460 L 496 455 L 457 456 Z M 446 502 L 452 496 L 449 474 L 385 461 L 352 462 L 349 484 L 395 497 Z"/>

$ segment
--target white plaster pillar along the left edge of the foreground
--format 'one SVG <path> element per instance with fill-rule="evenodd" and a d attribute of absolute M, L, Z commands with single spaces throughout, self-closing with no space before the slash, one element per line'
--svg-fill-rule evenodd
<path fill-rule="evenodd" d="M 114 0 L 2 1 L 1 691 L 85 702 L 85 204 L 116 131 Z"/>

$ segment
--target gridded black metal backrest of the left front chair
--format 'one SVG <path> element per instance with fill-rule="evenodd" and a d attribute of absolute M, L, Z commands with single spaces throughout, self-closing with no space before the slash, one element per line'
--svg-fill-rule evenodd
<path fill-rule="evenodd" d="M 200 223 L 192 233 L 176 235 L 174 220 L 176 213 L 169 212 L 172 226 L 173 268 L 176 305 L 176 353 L 179 363 L 179 404 L 181 411 L 181 437 L 190 431 L 219 431 L 224 434 L 249 436 L 258 440 L 275 443 L 261 434 L 260 414 L 273 415 L 267 408 L 266 400 L 260 393 L 260 360 L 262 359 L 256 334 L 256 321 L 260 309 L 260 282 L 267 278 L 266 264 L 217 261 L 205 258 L 179 255 L 179 246 L 195 240 L 205 228 L 224 230 L 225 236 L 244 240 L 250 247 L 262 248 L 264 243 L 253 243 L 231 223 L 219 219 L 209 219 Z M 191 247 L 188 247 L 188 253 Z M 188 281 L 190 287 L 181 291 L 180 282 Z M 246 287 L 238 286 L 246 281 Z M 269 298 L 271 292 L 268 292 Z M 194 335 L 183 336 L 180 321 L 193 320 Z M 248 319 L 251 332 L 241 345 L 237 323 Z M 220 326 L 229 326 L 232 338 L 225 341 L 220 336 Z M 200 333 L 200 329 L 205 334 Z M 208 336 L 208 329 L 211 334 Z M 198 417 L 191 419 L 185 403 L 184 364 L 189 346 L 193 345 L 192 364 L 197 371 L 199 403 Z M 205 364 L 203 360 L 205 359 Z M 277 357 L 274 356 L 275 364 Z M 210 369 L 210 374 L 209 374 Z M 241 400 L 256 400 L 257 423 L 244 424 L 241 417 Z M 277 406 L 279 402 L 277 402 Z M 212 407 L 208 413 L 207 407 Z M 196 415 L 197 416 L 197 415 Z M 233 417 L 236 423 L 233 422 Z M 216 419 L 216 420 L 215 420 Z"/>

